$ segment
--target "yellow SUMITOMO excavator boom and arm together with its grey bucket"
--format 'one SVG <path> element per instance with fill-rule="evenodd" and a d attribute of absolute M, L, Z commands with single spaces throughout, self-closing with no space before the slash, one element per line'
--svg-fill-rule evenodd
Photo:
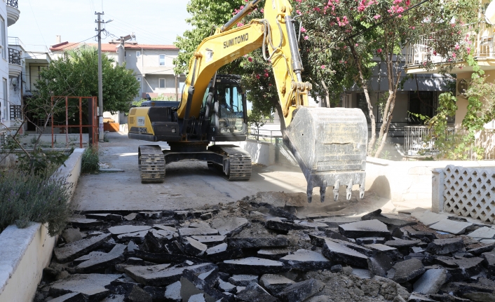
<path fill-rule="evenodd" d="M 287 126 L 283 141 L 308 181 L 308 202 L 311 203 L 315 186 L 320 187 L 322 203 L 327 186 L 333 187 L 337 200 L 341 185 L 347 186 L 347 199 L 351 198 L 353 185 L 359 185 L 362 198 L 368 132 L 364 114 L 360 109 L 308 107 L 311 84 L 301 80 L 303 67 L 289 1 L 266 0 L 263 19 L 232 29 L 259 2 L 248 3 L 196 49 L 177 109 L 185 125 L 181 135 L 187 139 L 184 131 L 189 118 L 199 117 L 203 96 L 217 70 L 252 50 L 263 48 L 266 60 L 273 67 Z"/>

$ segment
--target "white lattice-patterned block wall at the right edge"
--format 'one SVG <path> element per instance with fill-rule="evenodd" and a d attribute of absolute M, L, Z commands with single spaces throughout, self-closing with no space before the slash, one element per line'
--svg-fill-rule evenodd
<path fill-rule="evenodd" d="M 433 188 L 435 207 L 495 222 L 495 167 L 447 165 L 435 171 Z"/>

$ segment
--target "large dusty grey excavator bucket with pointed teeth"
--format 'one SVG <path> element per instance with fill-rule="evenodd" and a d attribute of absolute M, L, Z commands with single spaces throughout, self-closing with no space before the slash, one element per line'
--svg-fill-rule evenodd
<path fill-rule="evenodd" d="M 287 146 L 308 181 L 308 203 L 313 187 L 320 187 L 321 202 L 327 186 L 333 187 L 334 200 L 339 187 L 347 186 L 351 198 L 354 184 L 365 195 L 365 167 L 368 128 L 361 109 L 300 107 L 283 133 Z"/>

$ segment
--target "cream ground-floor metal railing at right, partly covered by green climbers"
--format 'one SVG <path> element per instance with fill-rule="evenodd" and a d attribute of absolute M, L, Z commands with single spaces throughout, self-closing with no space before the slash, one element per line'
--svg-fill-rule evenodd
<path fill-rule="evenodd" d="M 464 130 L 447 128 L 447 135 L 462 135 Z M 495 129 L 485 129 L 475 134 L 475 141 L 470 146 L 468 158 L 477 159 L 475 149 L 482 148 L 483 160 L 495 159 Z M 438 149 L 435 146 L 435 138 L 431 137 L 431 130 L 426 126 L 406 126 L 404 139 L 404 152 L 408 156 L 436 155 Z"/>

